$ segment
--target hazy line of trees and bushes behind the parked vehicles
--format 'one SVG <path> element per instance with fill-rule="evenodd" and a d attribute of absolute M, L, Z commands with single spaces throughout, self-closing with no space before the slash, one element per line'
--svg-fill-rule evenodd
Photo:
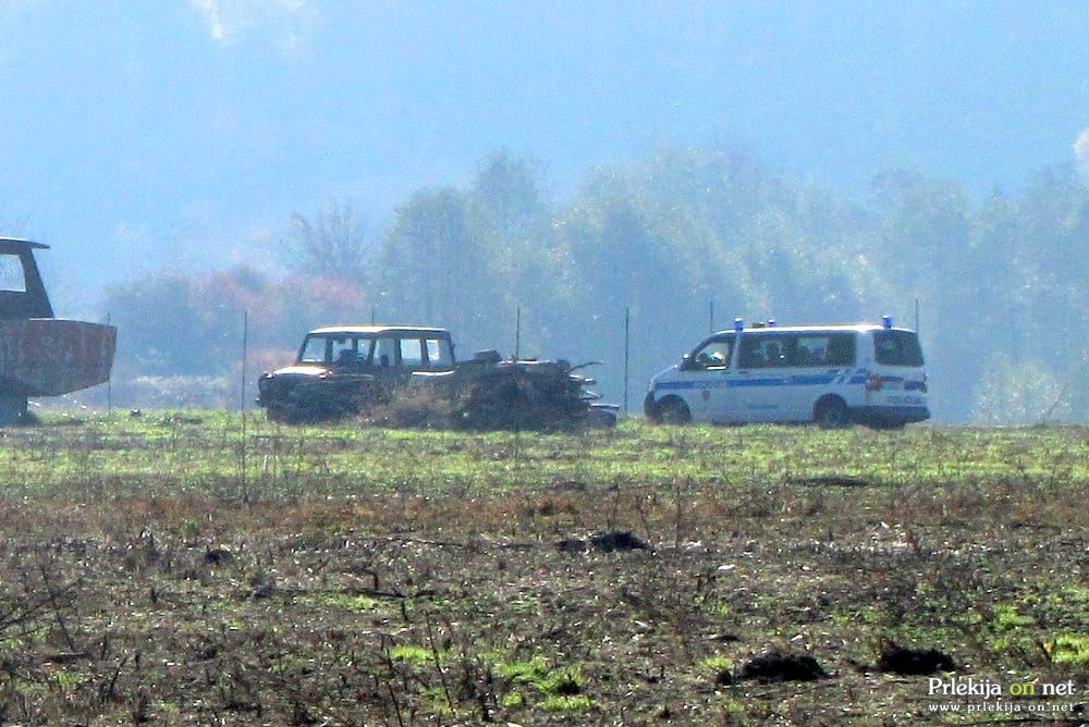
<path fill-rule="evenodd" d="M 506 151 L 460 187 L 420 189 L 383 229 L 331 204 L 295 213 L 286 274 L 164 272 L 110 288 L 120 378 L 230 377 L 248 311 L 255 367 L 286 362 L 319 324 L 426 323 L 458 353 L 598 360 L 629 405 L 646 381 L 735 316 L 781 323 L 894 316 L 919 328 L 935 416 L 1086 420 L 1089 189 L 1073 167 L 976 200 L 909 171 L 864 199 L 729 149 L 671 148 L 594 170 L 567 199 Z"/>

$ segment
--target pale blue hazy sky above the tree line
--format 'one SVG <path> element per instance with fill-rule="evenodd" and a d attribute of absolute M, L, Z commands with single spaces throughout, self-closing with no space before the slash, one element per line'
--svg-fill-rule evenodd
<path fill-rule="evenodd" d="M 0 0 L 0 227 L 90 305 L 136 268 L 260 262 L 331 198 L 377 227 L 502 147 L 560 194 L 664 144 L 986 194 L 1074 160 L 1087 70 L 1086 0 Z"/>

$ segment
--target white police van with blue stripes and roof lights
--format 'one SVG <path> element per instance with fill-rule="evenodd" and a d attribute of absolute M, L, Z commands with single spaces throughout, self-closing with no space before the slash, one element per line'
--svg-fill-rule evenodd
<path fill-rule="evenodd" d="M 898 428 L 930 418 L 922 362 L 918 335 L 888 316 L 851 325 L 735 319 L 650 380 L 644 411 L 672 423 Z"/>

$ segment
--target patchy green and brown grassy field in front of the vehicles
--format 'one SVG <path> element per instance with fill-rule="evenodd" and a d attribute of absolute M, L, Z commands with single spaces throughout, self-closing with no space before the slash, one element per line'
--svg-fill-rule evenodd
<path fill-rule="evenodd" d="M 1085 427 L 242 430 L 0 431 L 0 723 L 1087 719 Z"/>

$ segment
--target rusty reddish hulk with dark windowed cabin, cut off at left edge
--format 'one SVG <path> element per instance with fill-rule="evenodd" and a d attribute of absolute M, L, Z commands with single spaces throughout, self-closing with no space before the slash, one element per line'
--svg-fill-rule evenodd
<path fill-rule="evenodd" d="M 117 329 L 53 317 L 35 250 L 48 245 L 0 237 L 0 426 L 26 418 L 28 398 L 106 383 Z"/>

